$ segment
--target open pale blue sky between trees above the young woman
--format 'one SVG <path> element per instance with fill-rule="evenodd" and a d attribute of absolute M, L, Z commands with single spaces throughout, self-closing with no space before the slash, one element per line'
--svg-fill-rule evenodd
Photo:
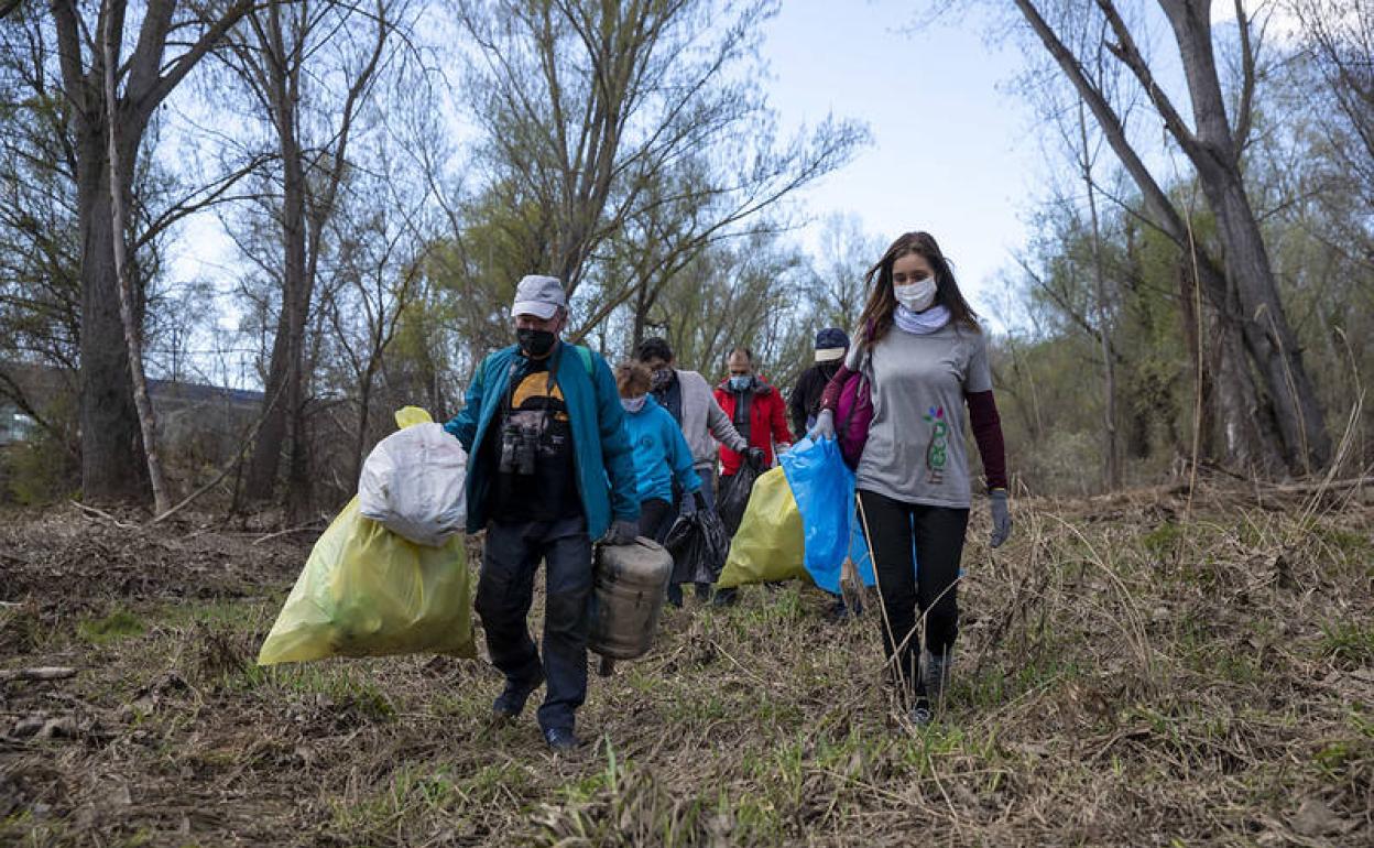
<path fill-rule="evenodd" d="M 1024 241 L 1022 219 L 1048 176 L 1030 109 L 999 89 L 1022 58 L 989 44 L 973 12 L 912 27 L 921 5 L 786 0 L 767 23 L 767 89 L 785 125 L 833 111 L 872 133 L 871 147 L 808 192 L 816 220 L 801 238 L 813 246 L 830 212 L 859 214 L 883 242 L 927 230 L 976 308 L 998 320 L 998 271 Z"/>

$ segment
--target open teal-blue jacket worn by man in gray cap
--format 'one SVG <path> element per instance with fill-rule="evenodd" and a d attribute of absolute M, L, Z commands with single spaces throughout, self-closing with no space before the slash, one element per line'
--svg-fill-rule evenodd
<path fill-rule="evenodd" d="M 467 532 L 486 526 L 495 467 L 491 454 L 481 449 L 485 438 L 500 426 L 497 412 L 510 390 L 510 364 L 519 353 L 518 345 L 491 353 L 477 367 L 467 386 L 463 411 L 444 425 L 467 451 Z M 638 521 L 635 498 L 635 460 L 625 434 L 625 410 L 620 405 L 616 378 L 600 356 L 585 348 L 559 342 L 554 353 L 554 379 L 563 392 L 573 430 L 573 460 L 577 467 L 577 493 L 587 514 L 587 533 L 600 539 L 611 520 Z"/>

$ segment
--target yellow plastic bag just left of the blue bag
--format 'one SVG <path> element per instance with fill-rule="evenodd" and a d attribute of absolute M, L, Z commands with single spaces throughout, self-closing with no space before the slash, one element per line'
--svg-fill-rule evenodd
<path fill-rule="evenodd" d="M 801 513 L 782 469 L 767 471 L 754 482 L 739 532 L 730 543 L 717 588 L 774 580 L 811 580 L 804 564 Z"/>

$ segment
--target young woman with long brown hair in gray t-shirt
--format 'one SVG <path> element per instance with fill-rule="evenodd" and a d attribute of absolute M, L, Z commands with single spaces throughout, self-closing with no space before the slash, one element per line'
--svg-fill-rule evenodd
<path fill-rule="evenodd" d="M 868 302 L 857 344 L 826 388 L 812 436 L 834 437 L 841 390 L 861 371 L 872 422 L 855 471 L 882 596 L 883 649 L 911 720 L 927 724 L 959 634 L 956 580 L 973 488 L 965 408 L 987 477 L 992 547 L 1011 533 L 1002 425 L 987 339 L 934 238 L 903 235 L 864 280 Z M 922 614 L 925 673 L 916 632 Z"/>

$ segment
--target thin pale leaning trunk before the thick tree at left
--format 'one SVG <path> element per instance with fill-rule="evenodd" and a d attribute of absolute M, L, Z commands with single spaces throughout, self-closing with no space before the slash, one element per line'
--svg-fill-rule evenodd
<path fill-rule="evenodd" d="M 148 481 L 153 484 L 153 510 L 161 515 L 172 506 L 168 493 L 166 478 L 162 476 L 162 462 L 158 459 L 158 425 L 153 412 L 153 401 L 148 399 L 148 381 L 143 372 L 143 326 L 135 311 L 133 283 L 129 279 L 129 263 L 124 242 L 125 227 L 125 188 L 122 179 L 122 162 L 120 157 L 120 115 L 117 113 L 114 74 L 118 67 L 118 52 L 115 49 L 117 36 L 114 23 L 117 15 L 106 11 L 104 32 L 102 33 L 102 48 L 104 54 L 104 114 L 106 137 L 109 139 L 110 157 L 110 242 L 114 247 L 114 275 L 120 289 L 120 319 L 124 324 L 124 345 L 129 355 L 129 374 L 133 379 L 133 405 L 139 412 L 139 430 L 143 436 L 143 451 L 148 462 Z M 121 33 L 122 36 L 122 33 Z"/>

